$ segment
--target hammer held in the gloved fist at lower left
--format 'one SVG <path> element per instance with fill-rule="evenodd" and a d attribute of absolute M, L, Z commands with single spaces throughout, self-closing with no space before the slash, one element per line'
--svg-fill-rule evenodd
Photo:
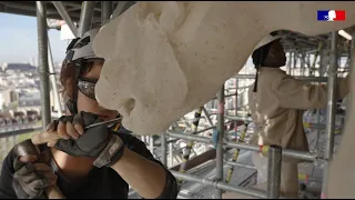
<path fill-rule="evenodd" d="M 22 141 L 17 144 L 14 148 L 14 152 L 17 156 L 23 157 L 27 154 L 40 154 L 40 150 L 37 146 L 34 146 L 30 140 Z M 60 191 L 57 184 L 52 187 L 48 187 L 45 189 L 45 193 L 48 199 L 65 199 L 63 193 Z"/>

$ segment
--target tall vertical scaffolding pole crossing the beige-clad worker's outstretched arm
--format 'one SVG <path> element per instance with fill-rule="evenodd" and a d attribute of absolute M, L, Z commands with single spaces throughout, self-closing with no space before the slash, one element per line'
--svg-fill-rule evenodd
<path fill-rule="evenodd" d="M 326 139 L 324 150 L 324 169 L 323 169 L 323 184 L 322 199 L 327 199 L 327 182 L 328 182 L 328 164 L 333 158 L 334 149 L 334 130 L 335 130 L 335 107 L 336 107 L 336 79 L 338 67 L 338 34 L 336 31 L 332 32 L 331 42 L 331 64 L 328 69 L 328 86 L 327 86 L 327 112 L 326 112 Z"/>

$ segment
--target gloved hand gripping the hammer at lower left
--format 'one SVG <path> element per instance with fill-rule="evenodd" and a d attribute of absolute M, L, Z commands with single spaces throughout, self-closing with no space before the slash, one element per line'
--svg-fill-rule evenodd
<path fill-rule="evenodd" d="M 13 189 L 18 199 L 48 199 L 44 189 L 57 183 L 57 176 L 39 156 L 17 157 L 13 162 Z"/>

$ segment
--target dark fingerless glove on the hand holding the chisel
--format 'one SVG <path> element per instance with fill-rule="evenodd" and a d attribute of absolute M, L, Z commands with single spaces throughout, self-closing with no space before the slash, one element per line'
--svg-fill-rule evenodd
<path fill-rule="evenodd" d="M 80 113 L 82 126 L 102 122 L 97 114 L 89 112 Z M 124 144 L 120 137 L 113 134 L 105 124 L 85 130 L 77 140 L 60 139 L 55 142 L 55 149 L 75 157 L 95 158 L 93 164 L 98 168 L 112 166 L 122 156 Z"/>

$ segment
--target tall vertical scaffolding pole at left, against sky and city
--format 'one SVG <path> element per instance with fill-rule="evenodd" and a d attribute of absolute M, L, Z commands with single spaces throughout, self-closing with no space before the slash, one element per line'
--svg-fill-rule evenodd
<path fill-rule="evenodd" d="M 47 4 L 43 1 L 36 1 L 37 24 L 38 24 L 38 60 L 40 73 L 42 127 L 45 130 L 51 121 L 49 69 L 48 69 L 48 32 L 47 32 Z"/>

